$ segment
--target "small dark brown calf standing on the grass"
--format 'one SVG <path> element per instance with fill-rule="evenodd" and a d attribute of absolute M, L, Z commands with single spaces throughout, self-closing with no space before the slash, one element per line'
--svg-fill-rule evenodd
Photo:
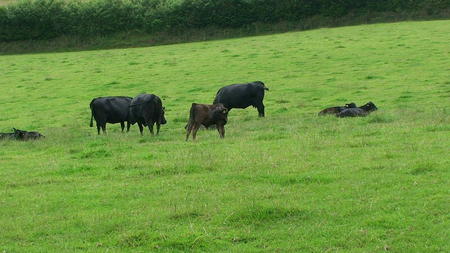
<path fill-rule="evenodd" d="M 186 127 L 186 141 L 188 141 L 191 131 L 192 140 L 195 141 L 200 126 L 204 125 L 208 127 L 212 124 L 217 125 L 220 138 L 225 138 L 224 125 L 228 119 L 228 112 L 229 110 L 222 103 L 214 105 L 192 103 L 191 110 L 189 111 L 188 126 Z"/>

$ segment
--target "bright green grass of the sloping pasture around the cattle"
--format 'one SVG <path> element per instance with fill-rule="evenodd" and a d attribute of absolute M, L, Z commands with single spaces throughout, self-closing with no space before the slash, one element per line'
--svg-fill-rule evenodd
<path fill-rule="evenodd" d="M 0 250 L 449 252 L 449 21 L 0 56 Z M 184 142 L 191 103 L 262 80 L 266 117 Z M 98 96 L 155 93 L 168 123 L 89 128 Z M 365 118 L 318 117 L 373 101 Z"/>

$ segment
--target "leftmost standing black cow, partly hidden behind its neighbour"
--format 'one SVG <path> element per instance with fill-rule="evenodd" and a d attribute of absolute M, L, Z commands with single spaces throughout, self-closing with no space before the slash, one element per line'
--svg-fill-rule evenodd
<path fill-rule="evenodd" d="M 91 108 L 91 124 L 89 126 L 92 127 L 94 125 L 92 119 L 96 119 L 97 134 L 100 134 L 100 128 L 106 134 L 106 123 L 120 123 L 123 132 L 125 128 L 124 122 L 127 122 L 128 132 L 129 127 L 136 123 L 129 112 L 129 105 L 132 99 L 127 96 L 94 98 L 89 104 Z"/>

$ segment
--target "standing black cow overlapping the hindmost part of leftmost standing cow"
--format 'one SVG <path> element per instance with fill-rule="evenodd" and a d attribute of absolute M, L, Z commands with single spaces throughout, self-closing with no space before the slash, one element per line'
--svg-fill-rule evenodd
<path fill-rule="evenodd" d="M 134 97 L 129 105 L 131 117 L 138 123 L 139 131 L 143 131 L 143 126 L 148 126 L 150 133 L 154 135 L 153 125 L 156 123 L 156 134 L 160 134 L 162 124 L 166 124 L 164 117 L 165 108 L 162 107 L 161 98 L 153 94 L 142 93 Z"/>

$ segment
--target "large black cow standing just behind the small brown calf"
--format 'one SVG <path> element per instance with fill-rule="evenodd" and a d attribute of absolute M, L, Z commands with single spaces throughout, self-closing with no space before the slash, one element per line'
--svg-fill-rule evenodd
<path fill-rule="evenodd" d="M 223 86 L 217 91 L 213 104 L 223 103 L 229 111 L 233 108 L 245 109 L 252 105 L 258 109 L 259 117 L 264 117 L 264 104 L 262 103 L 264 91 L 269 91 L 269 88 L 261 81 Z"/>

